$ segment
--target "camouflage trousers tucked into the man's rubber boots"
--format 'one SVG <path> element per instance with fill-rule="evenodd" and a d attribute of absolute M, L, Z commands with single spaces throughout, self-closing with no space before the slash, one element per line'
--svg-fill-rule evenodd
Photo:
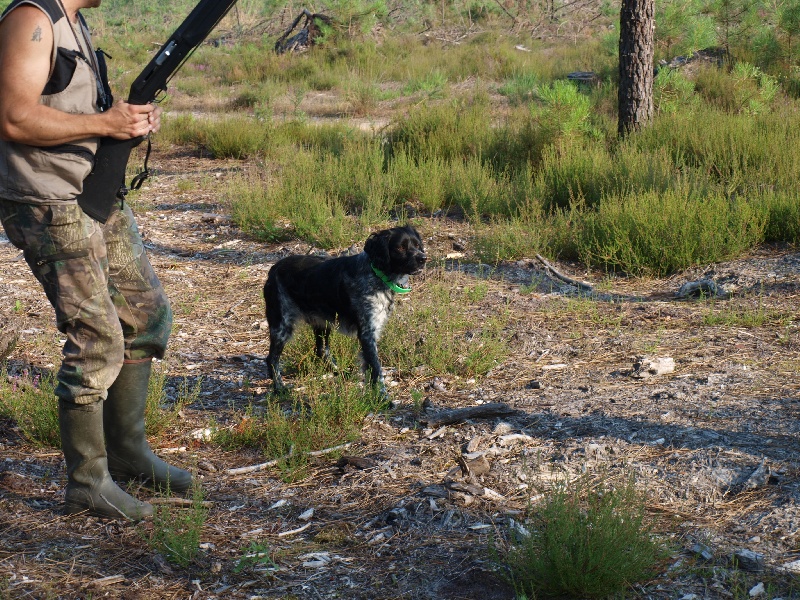
<path fill-rule="evenodd" d="M 105 399 L 123 361 L 163 358 L 172 311 L 144 252 L 130 207 L 100 224 L 75 202 L 31 205 L 0 199 L 0 221 L 66 334 L 56 396 Z"/>

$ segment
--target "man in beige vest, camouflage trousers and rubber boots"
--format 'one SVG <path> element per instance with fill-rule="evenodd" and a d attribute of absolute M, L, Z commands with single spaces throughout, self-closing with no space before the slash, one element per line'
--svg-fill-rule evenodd
<path fill-rule="evenodd" d="M 172 312 L 133 213 L 115 200 L 104 224 L 76 202 L 99 138 L 155 132 L 161 109 L 108 106 L 80 9 L 101 0 L 14 0 L 0 17 L 0 221 L 66 335 L 57 375 L 66 512 L 138 520 L 153 507 L 114 480 L 182 493 L 191 475 L 145 439 L 153 357 Z"/>

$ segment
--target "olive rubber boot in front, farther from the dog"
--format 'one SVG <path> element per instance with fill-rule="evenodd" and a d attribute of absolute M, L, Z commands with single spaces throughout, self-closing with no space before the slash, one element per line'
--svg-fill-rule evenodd
<path fill-rule="evenodd" d="M 140 521 L 153 507 L 121 490 L 111 479 L 103 440 L 103 403 L 59 400 L 61 447 L 67 463 L 67 514 L 87 511 L 98 517 Z"/>

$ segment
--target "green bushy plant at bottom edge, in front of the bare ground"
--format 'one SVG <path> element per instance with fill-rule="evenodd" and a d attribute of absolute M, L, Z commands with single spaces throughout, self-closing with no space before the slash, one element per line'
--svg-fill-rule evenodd
<path fill-rule="evenodd" d="M 633 479 L 613 487 L 559 481 L 502 553 L 518 597 L 622 596 L 665 556 Z"/>

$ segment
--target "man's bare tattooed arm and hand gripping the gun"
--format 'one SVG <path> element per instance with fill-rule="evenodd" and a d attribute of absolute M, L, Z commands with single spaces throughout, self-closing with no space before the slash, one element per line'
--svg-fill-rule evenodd
<path fill-rule="evenodd" d="M 53 29 L 38 8 L 22 5 L 0 25 L 0 137 L 55 146 L 88 137 L 131 139 L 156 131 L 161 109 L 118 102 L 104 113 L 73 115 L 44 106 Z"/>

